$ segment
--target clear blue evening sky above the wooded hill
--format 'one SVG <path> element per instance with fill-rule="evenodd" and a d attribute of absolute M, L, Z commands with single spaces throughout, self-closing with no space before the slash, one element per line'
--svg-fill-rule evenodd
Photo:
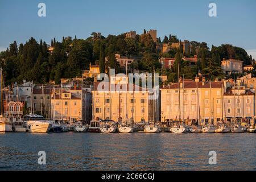
<path fill-rule="evenodd" d="M 41 2 L 46 17 L 38 16 Z M 208 14 L 212 2 L 216 17 Z M 49 44 L 63 36 L 86 39 L 92 32 L 108 36 L 156 29 L 162 40 L 171 34 L 207 42 L 208 47 L 232 44 L 256 59 L 255 7 L 256 0 L 0 0 L 0 51 L 14 40 L 26 43 L 31 37 Z"/>

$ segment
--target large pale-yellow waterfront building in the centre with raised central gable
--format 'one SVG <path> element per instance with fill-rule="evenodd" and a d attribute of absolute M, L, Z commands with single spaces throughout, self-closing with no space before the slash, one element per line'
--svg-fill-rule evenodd
<path fill-rule="evenodd" d="M 94 89 L 92 91 L 93 119 L 129 120 L 132 122 L 147 122 L 152 120 L 154 117 L 152 100 L 148 99 L 150 93 L 145 89 L 131 84 L 118 85 L 112 83 L 109 84 L 109 88 L 114 86 L 114 88 L 120 89 L 110 92 L 110 89 L 105 90 L 104 86 L 99 86 L 100 83 L 94 82 Z M 133 89 L 130 90 L 129 88 Z"/>

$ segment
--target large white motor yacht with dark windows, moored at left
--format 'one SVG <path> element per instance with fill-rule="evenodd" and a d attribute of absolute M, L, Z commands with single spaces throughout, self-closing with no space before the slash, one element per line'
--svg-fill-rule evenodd
<path fill-rule="evenodd" d="M 30 133 L 47 133 L 52 123 L 47 121 L 42 115 L 28 114 L 24 115 L 24 123 L 27 132 Z"/>

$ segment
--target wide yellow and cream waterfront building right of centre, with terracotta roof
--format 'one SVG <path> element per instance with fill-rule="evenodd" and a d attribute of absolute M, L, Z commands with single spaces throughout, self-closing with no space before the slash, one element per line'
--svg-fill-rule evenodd
<path fill-rule="evenodd" d="M 185 81 L 161 90 L 161 121 L 191 120 L 217 124 L 222 119 L 222 82 Z"/>

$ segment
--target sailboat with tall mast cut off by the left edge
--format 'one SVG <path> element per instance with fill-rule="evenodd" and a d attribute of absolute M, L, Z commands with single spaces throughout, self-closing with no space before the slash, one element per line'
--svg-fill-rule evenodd
<path fill-rule="evenodd" d="M 11 132 L 13 131 L 12 123 L 10 118 L 3 115 L 3 75 L 1 68 L 1 115 L 0 115 L 0 132 Z"/>

